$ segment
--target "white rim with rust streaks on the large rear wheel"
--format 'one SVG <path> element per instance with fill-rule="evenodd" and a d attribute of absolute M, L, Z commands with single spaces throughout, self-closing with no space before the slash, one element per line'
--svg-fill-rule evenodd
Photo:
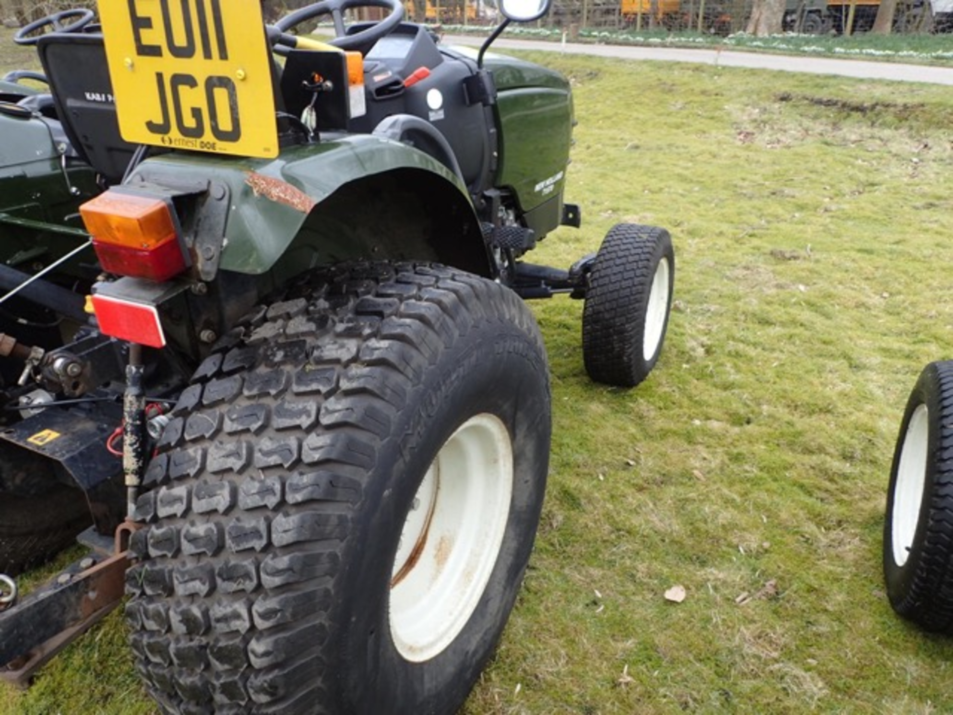
<path fill-rule="evenodd" d="M 494 415 L 468 419 L 436 455 L 407 515 L 391 576 L 391 636 L 422 663 L 453 643 L 497 563 L 513 495 L 513 444 Z"/>

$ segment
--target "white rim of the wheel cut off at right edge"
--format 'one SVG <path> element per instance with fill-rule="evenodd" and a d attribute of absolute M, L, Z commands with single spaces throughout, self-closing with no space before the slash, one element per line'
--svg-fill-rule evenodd
<path fill-rule="evenodd" d="M 926 447 L 930 434 L 929 413 L 921 404 L 913 411 L 903 436 L 897 480 L 894 482 L 891 515 L 891 548 L 898 566 L 906 563 L 920 521 L 923 484 L 926 480 Z"/>

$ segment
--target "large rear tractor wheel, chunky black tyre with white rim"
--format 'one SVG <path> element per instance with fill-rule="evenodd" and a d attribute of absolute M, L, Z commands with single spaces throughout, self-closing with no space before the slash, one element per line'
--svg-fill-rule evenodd
<path fill-rule="evenodd" d="M 127 616 L 167 712 L 452 713 L 547 473 L 526 306 L 436 266 L 322 271 L 199 368 L 137 503 Z"/>

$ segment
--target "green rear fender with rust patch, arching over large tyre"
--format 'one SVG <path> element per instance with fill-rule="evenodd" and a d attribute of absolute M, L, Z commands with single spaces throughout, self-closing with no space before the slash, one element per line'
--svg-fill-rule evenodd
<path fill-rule="evenodd" d="M 488 271 L 479 222 L 456 174 L 427 153 L 374 134 L 328 134 L 320 142 L 283 149 L 274 159 L 162 154 L 139 166 L 131 176 L 132 183 L 137 181 L 172 188 L 211 181 L 228 187 L 221 270 L 266 273 L 310 240 L 301 255 L 321 253 L 319 260 L 325 262 L 363 252 Z M 408 223 L 415 224 L 413 231 L 403 228 Z M 355 229 L 364 225 L 362 232 Z M 414 237 L 425 229 L 445 235 L 427 241 Z M 388 233 L 397 237 L 379 237 Z M 416 248 L 401 255 L 397 247 L 415 240 Z M 442 248 L 440 241 L 446 242 Z"/>

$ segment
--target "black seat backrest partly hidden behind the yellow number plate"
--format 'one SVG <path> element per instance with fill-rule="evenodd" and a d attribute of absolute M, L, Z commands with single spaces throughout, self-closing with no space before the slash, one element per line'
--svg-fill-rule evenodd
<path fill-rule="evenodd" d="M 135 145 L 119 133 L 103 36 L 55 32 L 41 37 L 38 47 L 73 149 L 109 183 L 119 183 Z"/>

